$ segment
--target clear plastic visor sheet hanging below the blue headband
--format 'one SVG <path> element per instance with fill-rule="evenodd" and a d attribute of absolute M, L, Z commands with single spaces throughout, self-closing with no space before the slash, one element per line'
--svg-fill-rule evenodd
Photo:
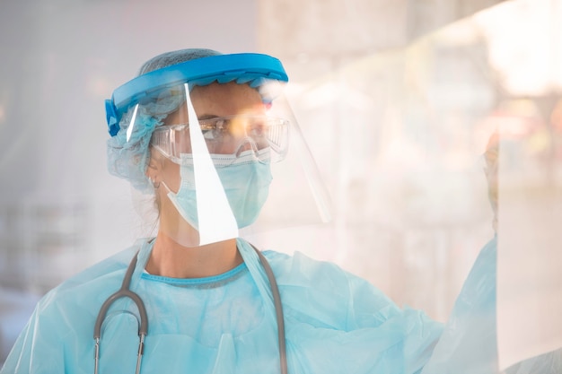
<path fill-rule="evenodd" d="M 127 132 L 157 121 L 146 176 L 158 230 L 198 247 L 329 221 L 328 193 L 293 113 L 270 91 L 268 83 L 185 83 L 128 109 Z"/>

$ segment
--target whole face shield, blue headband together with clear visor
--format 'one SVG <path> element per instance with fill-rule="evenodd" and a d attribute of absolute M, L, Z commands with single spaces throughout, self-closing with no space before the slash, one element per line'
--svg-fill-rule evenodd
<path fill-rule="evenodd" d="M 152 180 L 159 230 L 198 247 L 329 221 L 328 194 L 283 96 L 286 80 L 273 57 L 219 55 L 114 91 L 110 134 L 121 149 L 145 152 L 145 161 L 119 162 L 139 162 Z"/>

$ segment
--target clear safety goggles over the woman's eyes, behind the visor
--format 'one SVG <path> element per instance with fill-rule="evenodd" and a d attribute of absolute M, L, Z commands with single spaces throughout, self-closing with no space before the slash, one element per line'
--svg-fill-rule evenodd
<path fill-rule="evenodd" d="M 253 150 L 259 161 L 277 162 L 285 158 L 289 123 L 283 118 L 239 115 L 199 119 L 198 122 L 211 154 L 238 156 Z M 171 161 L 181 163 L 181 154 L 192 152 L 189 124 L 156 128 L 151 144 Z M 271 152 L 259 152 L 266 149 Z"/>

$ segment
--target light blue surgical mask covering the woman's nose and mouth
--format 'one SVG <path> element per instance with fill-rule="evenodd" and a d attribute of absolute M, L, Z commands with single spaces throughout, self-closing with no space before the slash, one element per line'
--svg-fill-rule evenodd
<path fill-rule="evenodd" d="M 224 156 L 216 165 L 226 198 L 233 211 L 238 228 L 247 227 L 258 219 L 259 212 L 268 198 L 271 183 L 269 163 L 264 163 L 250 156 L 241 154 L 234 161 L 224 166 Z M 180 165 L 180 189 L 177 193 L 162 182 L 168 190 L 168 198 L 176 207 L 181 217 L 195 229 L 198 229 L 197 198 L 192 162 Z"/>

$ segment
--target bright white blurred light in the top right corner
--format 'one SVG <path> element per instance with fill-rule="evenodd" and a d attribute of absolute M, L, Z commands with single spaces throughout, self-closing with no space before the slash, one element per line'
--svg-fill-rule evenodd
<path fill-rule="evenodd" d="M 513 95 L 562 91 L 559 0 L 517 0 L 474 15 L 487 37 L 490 64 Z"/>

